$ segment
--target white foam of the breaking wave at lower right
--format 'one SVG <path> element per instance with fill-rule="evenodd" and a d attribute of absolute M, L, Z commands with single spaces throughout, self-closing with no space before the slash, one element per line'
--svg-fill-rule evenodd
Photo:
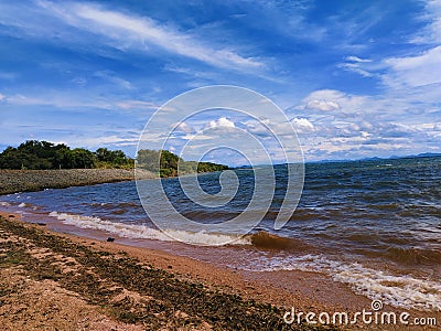
<path fill-rule="evenodd" d="M 250 260 L 245 269 L 254 271 L 304 270 L 330 275 L 348 284 L 357 293 L 395 307 L 441 311 L 441 284 L 411 276 L 394 276 L 357 263 L 345 264 L 322 255 L 271 257 Z"/>

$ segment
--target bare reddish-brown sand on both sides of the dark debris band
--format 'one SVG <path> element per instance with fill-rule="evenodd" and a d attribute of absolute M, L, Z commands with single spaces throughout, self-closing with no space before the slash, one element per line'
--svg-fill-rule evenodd
<path fill-rule="evenodd" d="M 18 215 L 3 214 L 9 220 L 17 220 Z M 28 225 L 29 226 L 29 225 Z M 39 227 L 41 229 L 42 226 Z M 49 232 L 49 231 L 46 231 Z M 49 232 L 52 233 L 52 232 Z M 52 233 L 54 234 L 54 233 Z M 277 273 L 245 273 L 232 270 L 197 261 L 187 257 L 171 255 L 161 250 L 147 249 L 140 247 L 126 246 L 118 243 L 106 243 L 73 235 L 56 234 L 68 238 L 69 241 L 93 247 L 94 249 L 109 252 L 111 254 L 123 254 L 137 258 L 141 264 L 148 264 L 154 268 L 171 271 L 178 279 L 184 281 L 196 281 L 204 284 L 209 289 L 225 293 L 235 293 L 245 300 L 255 300 L 257 302 L 271 303 L 280 307 L 280 319 L 284 311 L 294 307 L 297 311 L 321 312 L 334 311 L 355 312 L 362 309 L 370 309 L 370 300 L 363 296 L 355 295 L 347 286 L 332 281 L 322 274 L 303 271 L 277 271 Z M 1 239 L 0 239 L 1 241 Z M 4 239 L 3 239 L 4 241 Z M 7 241 L 23 241 L 17 236 L 11 236 Z M 31 250 L 36 258 L 45 258 L 45 250 Z M 57 261 L 64 264 L 65 271 L 75 271 L 76 261 L 71 260 L 66 266 L 66 256 L 58 256 Z M 20 270 L 14 268 L 2 268 L 2 288 L 10 295 L 0 296 L 0 322 L 7 330 L 18 328 L 32 330 L 34 328 L 45 328 L 49 330 L 74 329 L 74 330 L 140 330 L 139 325 L 123 323 L 116 320 L 106 310 L 90 305 L 85 298 L 82 298 L 75 291 L 66 290 L 54 280 L 35 280 L 23 276 Z M 126 290 L 125 290 L 126 291 Z M 125 292 L 119 293 L 120 298 L 126 298 Z M 121 297 L 122 296 L 122 297 Z M 142 298 L 142 295 L 131 293 L 131 299 Z M 118 300 L 118 297 L 114 298 Z M 138 300 L 140 300 L 138 298 Z M 62 305 L 61 302 L 65 302 Z M 75 309 L 72 309 L 75 307 Z M 391 307 L 385 307 L 384 310 L 397 311 Z M 186 313 L 182 312 L 183 316 Z M 433 317 L 441 321 L 439 313 L 423 313 L 418 311 L 410 312 L 412 317 Z M 293 329 L 292 324 L 292 329 Z M 196 330 L 211 329 L 213 325 L 206 321 L 198 321 Z M 9 329 L 8 329 L 9 328 Z M 174 325 L 162 325 L 165 330 L 175 329 Z M 193 328 L 193 327 L 192 327 Z M 192 329 L 190 328 L 190 329 Z M 358 324 L 357 328 L 377 329 L 377 330 L 401 330 L 402 325 L 388 327 Z M 154 328 L 153 328 L 154 329 Z M 189 330 L 190 330 L 189 329 Z M 222 328 L 220 328 L 222 329 Z M 228 329 L 228 328 L 226 328 Z M 252 328 L 251 328 L 252 329 Z M 289 328 L 290 329 L 290 328 Z M 351 328 L 345 328 L 351 329 Z M 409 327 L 407 330 L 424 330 L 424 328 Z M 428 330 L 433 328 L 427 327 Z"/>

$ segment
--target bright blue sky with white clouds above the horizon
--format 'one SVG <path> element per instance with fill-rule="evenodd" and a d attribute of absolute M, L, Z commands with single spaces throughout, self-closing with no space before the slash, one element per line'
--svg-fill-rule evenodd
<path fill-rule="evenodd" d="M 0 0 L 0 150 L 135 157 L 162 105 L 209 85 L 275 103 L 306 161 L 441 152 L 441 1 Z M 227 109 L 175 119 L 192 135 L 172 150 L 206 129 L 258 131 Z"/>

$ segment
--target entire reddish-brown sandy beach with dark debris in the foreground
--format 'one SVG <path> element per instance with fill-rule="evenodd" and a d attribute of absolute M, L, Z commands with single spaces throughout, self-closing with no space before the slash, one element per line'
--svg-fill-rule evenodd
<path fill-rule="evenodd" d="M 0 322 L 4 330 L 310 330 L 314 325 L 304 321 L 284 323 L 283 314 L 292 307 L 315 313 L 370 307 L 370 300 L 322 274 L 232 270 L 117 242 L 106 242 L 105 234 L 90 239 L 54 233 L 43 223 L 3 213 Z M 341 328 L 355 327 L 402 328 L 363 323 Z"/>

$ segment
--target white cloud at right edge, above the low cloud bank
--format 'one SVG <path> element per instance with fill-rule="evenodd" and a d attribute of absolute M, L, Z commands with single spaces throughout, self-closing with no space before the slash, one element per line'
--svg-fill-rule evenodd
<path fill-rule="evenodd" d="M 387 58 L 385 63 L 390 71 L 384 78 L 391 86 L 418 87 L 441 83 L 441 46 L 417 56 Z"/>

